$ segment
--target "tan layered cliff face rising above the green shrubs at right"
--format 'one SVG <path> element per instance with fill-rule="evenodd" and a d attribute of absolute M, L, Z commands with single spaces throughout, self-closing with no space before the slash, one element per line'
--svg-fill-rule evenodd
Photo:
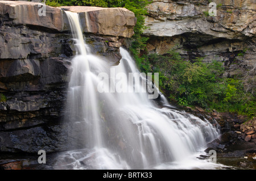
<path fill-rule="evenodd" d="M 209 2 L 216 3 L 216 16 L 209 16 Z M 153 0 L 147 9 L 144 35 L 150 37 L 150 53 L 174 49 L 185 60 L 222 61 L 225 76 L 247 76 L 250 69 L 247 79 L 255 80 L 255 1 Z"/>

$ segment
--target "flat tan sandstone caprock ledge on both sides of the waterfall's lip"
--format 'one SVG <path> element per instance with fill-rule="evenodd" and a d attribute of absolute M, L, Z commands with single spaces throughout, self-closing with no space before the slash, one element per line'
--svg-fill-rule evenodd
<path fill-rule="evenodd" d="M 124 8 L 102 7 L 51 7 L 46 6 L 46 16 L 40 16 L 42 3 L 0 1 L 0 15 L 9 16 L 14 24 L 28 24 L 55 31 L 70 30 L 64 10 L 78 12 L 85 33 L 117 37 L 133 36 L 134 13 Z"/>

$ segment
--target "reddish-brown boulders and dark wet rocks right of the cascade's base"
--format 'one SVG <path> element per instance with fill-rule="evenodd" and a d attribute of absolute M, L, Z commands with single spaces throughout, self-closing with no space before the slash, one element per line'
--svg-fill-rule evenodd
<path fill-rule="evenodd" d="M 216 150 L 217 162 L 233 169 L 256 169 L 256 118 L 246 121 L 246 116 L 228 112 L 206 113 L 202 108 L 188 111 L 208 120 L 216 120 L 221 135 L 207 145 L 205 153 Z"/>

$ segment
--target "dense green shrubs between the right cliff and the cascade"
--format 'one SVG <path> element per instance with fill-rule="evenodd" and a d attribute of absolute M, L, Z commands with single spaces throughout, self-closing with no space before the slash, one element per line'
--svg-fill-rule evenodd
<path fill-rule="evenodd" d="M 145 73 L 159 73 L 160 90 L 172 103 L 255 115 L 255 97 L 243 90 L 239 79 L 222 77 L 221 62 L 204 62 L 203 57 L 192 62 L 184 61 L 179 53 L 171 50 L 164 55 L 139 57 L 137 65 Z"/>

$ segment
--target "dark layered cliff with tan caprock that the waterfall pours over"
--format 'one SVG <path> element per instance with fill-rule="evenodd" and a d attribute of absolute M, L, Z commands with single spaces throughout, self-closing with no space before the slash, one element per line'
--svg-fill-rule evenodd
<path fill-rule="evenodd" d="M 0 1 L 0 151 L 65 150 L 63 122 L 71 59 L 75 54 L 67 16 L 79 12 L 92 52 L 112 60 L 133 35 L 134 14 L 122 8 L 46 6 Z"/>

